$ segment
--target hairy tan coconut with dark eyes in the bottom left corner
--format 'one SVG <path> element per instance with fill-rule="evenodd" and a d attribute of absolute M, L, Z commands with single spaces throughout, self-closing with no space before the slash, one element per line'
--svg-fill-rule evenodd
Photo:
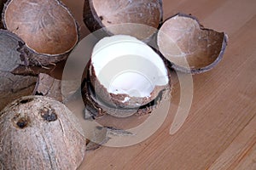
<path fill-rule="evenodd" d="M 80 130 L 54 99 L 17 99 L 0 113 L 0 169 L 77 169 L 86 147 Z"/>

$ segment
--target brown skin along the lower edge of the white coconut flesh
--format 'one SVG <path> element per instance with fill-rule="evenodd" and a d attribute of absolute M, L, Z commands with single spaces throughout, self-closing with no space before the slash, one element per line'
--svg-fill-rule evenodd
<path fill-rule="evenodd" d="M 102 100 L 105 105 L 109 105 L 110 107 L 118 107 L 118 108 L 138 108 L 142 105 L 147 105 L 149 102 L 153 101 L 160 92 L 168 88 L 169 84 L 165 86 L 156 86 L 154 90 L 151 92 L 149 97 L 131 97 L 128 94 L 112 94 L 108 93 L 108 89 L 105 88 L 101 82 L 96 77 L 94 67 L 90 64 L 90 84 L 92 88 L 95 90 L 96 98 Z M 125 98 L 129 98 L 129 101 L 123 102 Z"/>

